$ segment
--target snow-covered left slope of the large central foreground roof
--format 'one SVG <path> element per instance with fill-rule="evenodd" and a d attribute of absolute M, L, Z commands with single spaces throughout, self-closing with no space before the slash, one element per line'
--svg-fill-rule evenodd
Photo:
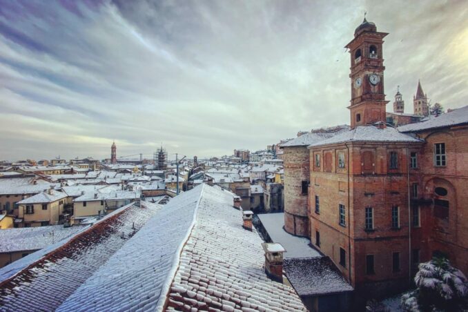
<path fill-rule="evenodd" d="M 193 223 L 201 188 L 175 197 L 62 304 L 58 311 L 155 310 Z M 150 203 L 144 202 L 144 205 Z M 110 295 L 111 294 L 111 295 Z M 164 298 L 163 298 L 164 302 Z"/>

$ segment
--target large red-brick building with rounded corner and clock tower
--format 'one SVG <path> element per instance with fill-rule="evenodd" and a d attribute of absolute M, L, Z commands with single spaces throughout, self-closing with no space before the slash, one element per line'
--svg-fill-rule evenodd
<path fill-rule="evenodd" d="M 407 288 L 417 264 L 432 255 L 468 270 L 462 207 L 468 197 L 461 191 L 468 178 L 468 106 L 387 127 L 386 35 L 364 19 L 347 45 L 351 129 L 306 133 L 282 144 L 285 229 L 308 236 L 329 256 L 358 301 Z M 426 100 L 419 84 L 420 115 Z"/>

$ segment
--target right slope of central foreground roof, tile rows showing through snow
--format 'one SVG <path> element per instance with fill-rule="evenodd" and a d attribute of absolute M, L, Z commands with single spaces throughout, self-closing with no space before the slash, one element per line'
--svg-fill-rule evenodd
<path fill-rule="evenodd" d="M 241 213 L 232 201 L 231 193 L 204 186 L 170 287 L 168 309 L 305 311 L 291 286 L 266 276 L 263 241 L 255 229 L 242 228 Z"/>

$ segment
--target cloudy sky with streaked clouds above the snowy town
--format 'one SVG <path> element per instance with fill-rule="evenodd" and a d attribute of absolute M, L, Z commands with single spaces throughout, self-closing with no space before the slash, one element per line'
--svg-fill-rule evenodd
<path fill-rule="evenodd" d="M 225 155 L 349 123 L 364 11 L 390 33 L 388 100 L 410 113 L 420 79 L 468 104 L 465 0 L 0 0 L 0 159 Z"/>

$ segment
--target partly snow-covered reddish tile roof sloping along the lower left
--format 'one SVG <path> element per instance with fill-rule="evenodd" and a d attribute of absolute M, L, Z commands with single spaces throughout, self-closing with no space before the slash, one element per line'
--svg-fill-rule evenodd
<path fill-rule="evenodd" d="M 128 205 L 68 240 L 66 244 L 56 246 L 50 253 L 42 255 L 38 251 L 41 255 L 39 259 L 36 259 L 35 253 L 24 257 L 23 261 L 32 260 L 32 263 L 0 282 L 1 310 L 57 309 L 127 242 L 121 238 L 121 233 L 133 235 L 154 213 L 154 208 Z M 13 262 L 10 266 L 15 264 Z M 9 269 L 9 266 L 2 268 L 0 275 Z"/>

